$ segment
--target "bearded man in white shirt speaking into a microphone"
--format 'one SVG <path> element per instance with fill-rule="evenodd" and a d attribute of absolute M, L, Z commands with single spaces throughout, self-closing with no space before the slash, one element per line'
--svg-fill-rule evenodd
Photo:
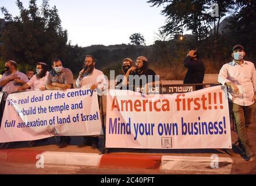
<path fill-rule="evenodd" d="M 96 60 L 94 56 L 87 55 L 84 59 L 84 69 L 80 71 L 76 80 L 77 88 L 90 88 L 103 92 L 108 89 L 106 78 L 102 71 L 95 69 Z M 83 144 L 79 148 L 90 145 L 92 149 L 97 149 L 98 137 L 84 137 Z"/>

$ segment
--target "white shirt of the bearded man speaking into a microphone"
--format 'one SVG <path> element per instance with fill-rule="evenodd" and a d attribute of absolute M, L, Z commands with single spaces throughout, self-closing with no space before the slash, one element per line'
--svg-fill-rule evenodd
<path fill-rule="evenodd" d="M 76 80 L 77 88 L 91 88 L 93 84 L 97 84 L 98 89 L 101 91 L 108 89 L 108 84 L 103 72 L 97 69 L 94 69 L 91 74 L 84 74 L 84 77 L 79 76 Z"/>

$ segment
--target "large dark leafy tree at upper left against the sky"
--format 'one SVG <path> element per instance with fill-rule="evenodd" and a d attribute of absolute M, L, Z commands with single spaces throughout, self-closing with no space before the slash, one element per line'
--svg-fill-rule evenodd
<path fill-rule="evenodd" d="M 41 12 L 36 0 L 30 0 L 29 8 L 16 1 L 19 16 L 13 17 L 5 7 L 1 8 L 6 26 L 3 30 L 2 56 L 21 64 L 34 66 L 52 58 L 65 58 L 67 31 L 61 26 L 56 6 L 49 8 L 49 0 L 43 0 Z"/>

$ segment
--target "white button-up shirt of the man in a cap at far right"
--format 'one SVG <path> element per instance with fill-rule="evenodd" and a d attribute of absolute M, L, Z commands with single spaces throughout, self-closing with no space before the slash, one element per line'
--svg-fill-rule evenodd
<path fill-rule="evenodd" d="M 219 83 L 225 85 L 232 82 L 239 88 L 239 94 L 234 94 L 229 88 L 230 101 L 241 106 L 253 105 L 256 92 L 256 71 L 254 63 L 244 60 L 242 65 L 230 62 L 223 65 L 218 77 Z"/>

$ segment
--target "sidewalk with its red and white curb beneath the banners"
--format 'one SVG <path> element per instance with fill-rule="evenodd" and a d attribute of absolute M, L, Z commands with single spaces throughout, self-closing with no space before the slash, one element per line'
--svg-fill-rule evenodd
<path fill-rule="evenodd" d="M 248 135 L 256 151 L 256 120 L 250 126 Z M 232 131 L 232 142 L 237 134 Z M 55 138 L 41 146 L 29 147 L 27 142 L 13 143 L 9 149 L 0 150 L 0 162 L 35 164 L 43 155 L 45 164 L 66 166 L 94 166 L 113 169 L 158 169 L 162 171 L 193 171 L 195 174 L 209 172 L 212 174 L 256 174 L 256 162 L 246 162 L 235 149 L 108 149 L 101 154 L 103 138 L 99 140 L 99 149 L 90 146 L 77 148 L 83 137 L 72 137 L 67 148 L 59 149 Z M 218 155 L 219 168 L 212 169 L 212 155 Z"/>

